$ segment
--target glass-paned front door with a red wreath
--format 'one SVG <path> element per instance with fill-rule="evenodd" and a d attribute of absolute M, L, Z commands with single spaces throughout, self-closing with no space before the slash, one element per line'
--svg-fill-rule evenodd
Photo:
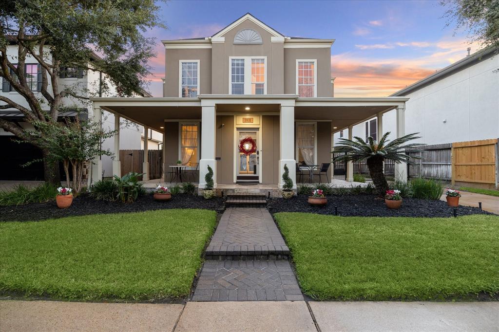
<path fill-rule="evenodd" d="M 237 181 L 259 181 L 259 146 L 257 130 L 238 130 L 237 140 Z M 242 151 L 243 150 L 243 151 Z"/>

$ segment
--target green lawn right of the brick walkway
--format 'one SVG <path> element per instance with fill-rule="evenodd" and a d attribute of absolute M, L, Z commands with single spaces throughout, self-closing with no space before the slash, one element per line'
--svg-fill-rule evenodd
<path fill-rule="evenodd" d="M 499 293 L 499 216 L 336 217 L 276 213 L 309 296 L 471 299 Z"/>

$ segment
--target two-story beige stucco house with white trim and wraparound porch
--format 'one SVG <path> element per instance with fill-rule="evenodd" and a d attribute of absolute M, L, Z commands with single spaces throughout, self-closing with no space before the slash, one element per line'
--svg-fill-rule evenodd
<path fill-rule="evenodd" d="M 248 13 L 212 36 L 163 40 L 163 98 L 94 98 L 95 116 L 106 110 L 164 133 L 164 169 L 180 160 L 200 188 L 207 166 L 219 187 L 280 187 L 285 164 L 296 183 L 296 163 L 331 163 L 334 132 L 396 109 L 397 135 L 404 134 L 408 98 L 333 97 L 333 43 L 285 36 Z M 245 138 L 244 149 L 256 145 L 249 155 L 240 149 Z M 93 167 L 96 180 L 98 160 Z M 397 167 L 405 178 L 406 166 Z M 353 180 L 352 167 L 345 179 Z"/>

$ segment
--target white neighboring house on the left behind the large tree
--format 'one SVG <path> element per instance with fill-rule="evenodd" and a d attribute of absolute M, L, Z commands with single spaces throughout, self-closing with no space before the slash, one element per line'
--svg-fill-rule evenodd
<path fill-rule="evenodd" d="M 49 52 L 47 51 L 49 54 Z M 15 63 L 17 56 L 17 46 L 9 45 L 7 46 L 7 56 L 9 61 Z M 98 59 L 98 55 L 92 54 L 92 58 L 89 59 L 89 66 L 91 66 L 92 60 Z M 28 55 L 26 57 L 26 73 L 28 77 L 31 78 L 32 91 L 35 94 L 39 94 L 42 98 L 40 91 L 41 88 L 41 71 L 40 65 L 32 56 Z M 81 94 L 87 97 L 95 96 L 99 94 L 99 87 L 103 80 L 107 80 L 105 74 L 92 70 L 82 70 L 78 68 L 63 68 L 58 78 L 58 84 L 62 88 L 63 86 L 72 86 L 76 91 L 81 91 Z M 47 90 L 51 91 L 51 82 L 48 81 Z M 105 96 L 115 95 L 114 87 L 109 85 L 109 91 Z M 19 95 L 14 89 L 11 88 L 10 84 L 3 80 L 1 81 L 1 91 L 0 95 L 5 95 L 12 101 L 27 107 L 26 100 Z M 145 91 L 140 91 L 137 93 L 136 97 L 151 97 Z M 0 102 L 0 105 L 5 105 L 4 102 Z M 48 105 L 45 104 L 48 110 Z M 87 101 L 82 101 L 75 99 L 73 97 L 64 97 L 62 99 L 62 105 L 68 107 L 69 109 L 88 109 L 90 114 L 93 113 L 92 106 Z M 75 111 L 67 111 L 61 114 L 64 117 L 73 117 L 76 115 Z M 0 110 L 0 117 L 5 120 L 17 120 L 19 125 L 23 128 L 30 128 L 28 123 L 22 121 L 23 115 L 15 109 L 4 109 Z M 114 130 L 115 121 L 114 115 L 112 113 L 106 112 L 103 117 L 103 128 L 108 128 Z M 123 149 L 141 149 L 141 131 L 140 127 L 128 126 L 122 129 L 122 135 L 120 136 L 120 144 Z M 26 162 L 32 161 L 34 159 L 41 158 L 41 153 L 39 150 L 29 144 L 18 144 L 12 140 L 14 136 L 0 129 L 0 146 L 2 149 L 2 162 L 0 171 L 0 180 L 43 180 L 43 166 L 41 163 L 34 163 L 28 167 L 21 167 L 20 165 Z M 114 146 L 114 138 L 108 139 L 103 144 L 104 150 L 112 150 Z M 108 156 L 102 157 L 103 169 L 105 171 L 104 176 L 112 176 L 112 159 Z"/>

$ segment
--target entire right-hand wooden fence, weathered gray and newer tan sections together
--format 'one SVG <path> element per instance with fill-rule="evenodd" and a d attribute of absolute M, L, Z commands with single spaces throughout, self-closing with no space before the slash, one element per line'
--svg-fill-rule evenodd
<path fill-rule="evenodd" d="M 424 177 L 451 181 L 453 185 L 498 187 L 498 139 L 456 142 L 422 147 L 423 153 L 411 152 L 407 166 L 409 178 Z M 460 183 L 461 182 L 461 183 Z"/>

